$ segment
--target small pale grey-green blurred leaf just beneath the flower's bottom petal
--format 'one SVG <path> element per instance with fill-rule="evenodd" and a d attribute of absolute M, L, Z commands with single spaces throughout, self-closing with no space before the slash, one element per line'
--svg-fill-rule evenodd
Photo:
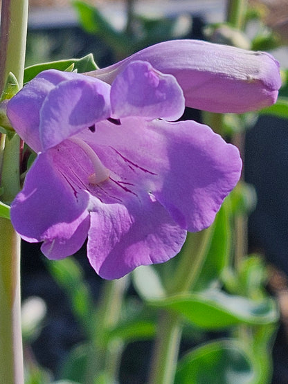
<path fill-rule="evenodd" d="M 133 284 L 143 300 L 154 300 L 165 297 L 165 289 L 153 266 L 139 266 L 132 273 Z"/>

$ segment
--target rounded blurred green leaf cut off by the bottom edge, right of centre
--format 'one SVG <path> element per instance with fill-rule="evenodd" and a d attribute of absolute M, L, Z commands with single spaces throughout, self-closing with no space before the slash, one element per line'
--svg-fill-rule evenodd
<path fill-rule="evenodd" d="M 179 362 L 175 384 L 251 384 L 254 372 L 249 356 L 237 340 L 202 345 Z"/>

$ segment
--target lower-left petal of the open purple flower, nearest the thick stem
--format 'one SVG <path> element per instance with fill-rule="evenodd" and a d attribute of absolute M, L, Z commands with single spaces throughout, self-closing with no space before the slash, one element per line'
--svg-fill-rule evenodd
<path fill-rule="evenodd" d="M 87 237 L 88 203 L 89 195 L 73 190 L 57 170 L 53 153 L 39 154 L 11 205 L 12 225 L 27 241 L 45 241 L 47 257 L 62 258 L 78 250 Z"/>

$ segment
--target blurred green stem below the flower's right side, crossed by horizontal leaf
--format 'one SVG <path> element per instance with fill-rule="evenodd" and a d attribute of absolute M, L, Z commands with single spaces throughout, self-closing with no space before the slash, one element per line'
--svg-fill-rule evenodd
<path fill-rule="evenodd" d="M 168 294 L 185 293 L 197 282 L 206 259 L 213 226 L 196 233 L 188 233 L 186 242 L 178 255 L 179 265 Z M 177 366 L 182 325 L 179 316 L 161 311 L 158 331 L 152 356 L 149 384 L 172 384 Z"/>

